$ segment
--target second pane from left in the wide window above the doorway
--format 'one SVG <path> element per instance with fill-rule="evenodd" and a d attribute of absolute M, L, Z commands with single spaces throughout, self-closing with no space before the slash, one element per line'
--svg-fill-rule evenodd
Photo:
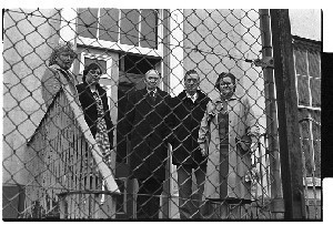
<path fill-rule="evenodd" d="M 100 40 L 118 42 L 119 39 L 119 9 L 101 9 Z"/>

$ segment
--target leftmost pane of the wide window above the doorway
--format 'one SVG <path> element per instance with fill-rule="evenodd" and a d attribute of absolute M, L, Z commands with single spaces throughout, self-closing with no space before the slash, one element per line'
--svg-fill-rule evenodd
<path fill-rule="evenodd" d="M 78 34 L 84 38 L 97 38 L 99 9 L 79 8 Z"/>

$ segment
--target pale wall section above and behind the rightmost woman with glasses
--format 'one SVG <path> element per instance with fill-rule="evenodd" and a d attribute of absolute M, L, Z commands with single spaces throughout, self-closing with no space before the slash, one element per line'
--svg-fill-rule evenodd
<path fill-rule="evenodd" d="M 251 96 L 253 111 L 263 129 L 262 70 L 244 61 L 262 58 L 258 10 L 189 9 L 184 10 L 184 70 L 200 72 L 200 88 L 211 99 L 218 96 L 214 83 L 219 74 L 233 73 L 239 79 L 236 93 Z"/>

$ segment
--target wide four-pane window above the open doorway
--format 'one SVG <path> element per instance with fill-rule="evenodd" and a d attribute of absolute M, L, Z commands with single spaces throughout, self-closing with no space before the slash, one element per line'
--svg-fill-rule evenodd
<path fill-rule="evenodd" d="M 158 49 L 158 17 L 153 9 L 78 9 L 79 37 Z"/>

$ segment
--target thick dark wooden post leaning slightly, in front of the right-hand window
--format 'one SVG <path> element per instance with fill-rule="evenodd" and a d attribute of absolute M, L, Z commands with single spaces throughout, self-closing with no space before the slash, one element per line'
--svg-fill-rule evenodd
<path fill-rule="evenodd" d="M 301 219 L 302 202 L 302 149 L 297 119 L 297 98 L 293 45 L 289 10 L 271 10 L 274 76 L 276 83 L 281 175 L 286 219 Z"/>

